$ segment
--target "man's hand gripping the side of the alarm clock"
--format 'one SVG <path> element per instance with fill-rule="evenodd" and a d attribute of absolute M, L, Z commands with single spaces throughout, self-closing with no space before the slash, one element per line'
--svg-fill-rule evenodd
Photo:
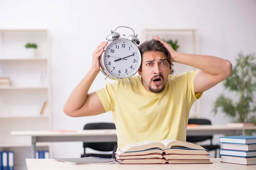
<path fill-rule="evenodd" d="M 99 57 L 102 55 L 105 46 L 108 44 L 107 41 L 103 41 L 101 42 L 95 51 L 93 51 L 93 65 L 92 65 L 92 69 L 94 71 L 100 71 L 99 70 Z"/>

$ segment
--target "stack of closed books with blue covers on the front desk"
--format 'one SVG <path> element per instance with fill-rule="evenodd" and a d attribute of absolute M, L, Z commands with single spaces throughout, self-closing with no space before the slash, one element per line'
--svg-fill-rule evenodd
<path fill-rule="evenodd" d="M 256 136 L 219 137 L 221 162 L 232 164 L 256 164 Z"/>

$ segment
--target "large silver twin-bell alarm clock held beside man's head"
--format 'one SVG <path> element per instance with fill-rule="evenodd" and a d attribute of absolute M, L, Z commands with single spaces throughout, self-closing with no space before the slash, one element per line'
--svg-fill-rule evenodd
<path fill-rule="evenodd" d="M 131 82 L 129 77 L 137 73 L 141 64 L 141 54 L 138 48 L 140 40 L 135 34 L 128 36 L 122 34 L 125 37 L 120 37 L 120 34 L 115 32 L 116 29 L 106 35 L 108 44 L 99 58 L 100 70 L 106 76 L 105 79 L 128 79 Z M 134 32 L 133 29 L 131 30 Z"/>

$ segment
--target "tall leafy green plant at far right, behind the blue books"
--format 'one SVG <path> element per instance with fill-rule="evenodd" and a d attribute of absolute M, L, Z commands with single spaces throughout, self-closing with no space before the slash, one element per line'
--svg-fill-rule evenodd
<path fill-rule="evenodd" d="M 256 124 L 256 56 L 244 55 L 241 52 L 236 59 L 236 65 L 223 85 L 225 89 L 234 92 L 237 99 L 221 94 L 214 102 L 213 112 L 216 115 L 221 109 L 233 122 Z M 245 134 L 251 135 L 255 130 L 245 130 Z"/>

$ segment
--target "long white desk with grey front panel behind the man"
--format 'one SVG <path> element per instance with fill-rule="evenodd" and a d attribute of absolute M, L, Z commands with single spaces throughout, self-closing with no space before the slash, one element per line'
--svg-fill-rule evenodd
<path fill-rule="evenodd" d="M 200 125 L 187 127 L 187 136 L 213 134 L 239 135 L 240 130 L 256 129 L 251 127 L 227 127 L 219 125 Z M 78 131 L 12 131 L 11 135 L 31 136 L 31 158 L 35 158 L 36 142 L 116 142 L 116 130 L 78 130 Z"/>

